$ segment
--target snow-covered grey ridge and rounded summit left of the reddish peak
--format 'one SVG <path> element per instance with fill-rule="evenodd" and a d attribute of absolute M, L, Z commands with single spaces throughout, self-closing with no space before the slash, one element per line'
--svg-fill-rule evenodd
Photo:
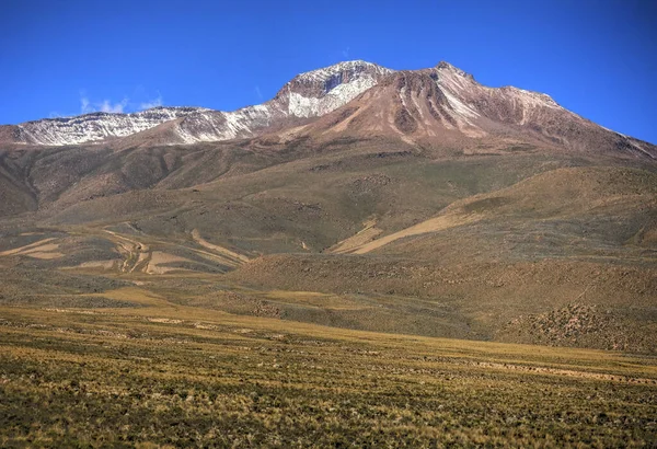
<path fill-rule="evenodd" d="M 297 76 L 276 96 L 234 112 L 203 107 L 154 107 L 132 114 L 92 113 L 79 117 L 27 122 L 0 131 L 19 143 L 77 145 L 135 135 L 176 120 L 166 143 L 229 140 L 254 136 L 287 118 L 316 117 L 353 100 L 392 71 L 374 64 L 348 61 Z M 5 140 L 5 141 L 7 141 Z"/>

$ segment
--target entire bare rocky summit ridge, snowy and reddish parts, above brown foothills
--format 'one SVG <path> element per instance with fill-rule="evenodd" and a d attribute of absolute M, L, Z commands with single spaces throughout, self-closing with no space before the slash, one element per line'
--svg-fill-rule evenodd
<path fill-rule="evenodd" d="M 223 141 L 308 125 L 316 117 L 325 118 L 301 130 L 306 137 L 383 134 L 425 146 L 440 139 L 518 138 L 569 150 L 657 158 L 655 146 L 598 126 L 549 95 L 488 88 L 445 61 L 404 71 L 361 60 L 341 62 L 301 73 L 274 99 L 233 112 L 157 107 L 93 113 L 0 127 L 0 141 L 61 146 L 118 138 L 125 147 Z"/>

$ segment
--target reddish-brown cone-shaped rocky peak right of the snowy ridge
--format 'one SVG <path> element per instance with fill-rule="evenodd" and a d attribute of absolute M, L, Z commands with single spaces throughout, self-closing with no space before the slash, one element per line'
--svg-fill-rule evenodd
<path fill-rule="evenodd" d="M 555 149 L 657 159 L 657 147 L 611 131 L 546 94 L 488 88 L 448 62 L 396 71 L 300 134 L 389 136 L 410 145 L 463 146 L 492 140 L 540 142 Z"/>

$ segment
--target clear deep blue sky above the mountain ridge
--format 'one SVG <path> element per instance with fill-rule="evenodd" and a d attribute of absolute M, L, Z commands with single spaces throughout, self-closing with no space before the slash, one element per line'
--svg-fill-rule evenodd
<path fill-rule="evenodd" d="M 346 59 L 447 60 L 657 143 L 655 0 L 3 0 L 0 123 L 158 103 L 234 110 Z"/>

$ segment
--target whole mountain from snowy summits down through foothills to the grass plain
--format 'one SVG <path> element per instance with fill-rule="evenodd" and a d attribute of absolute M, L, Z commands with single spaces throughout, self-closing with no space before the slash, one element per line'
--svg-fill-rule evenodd
<path fill-rule="evenodd" d="M 342 62 L 234 112 L 5 126 L 0 304 L 112 279 L 230 313 L 655 353 L 656 158 L 447 62 Z"/>

